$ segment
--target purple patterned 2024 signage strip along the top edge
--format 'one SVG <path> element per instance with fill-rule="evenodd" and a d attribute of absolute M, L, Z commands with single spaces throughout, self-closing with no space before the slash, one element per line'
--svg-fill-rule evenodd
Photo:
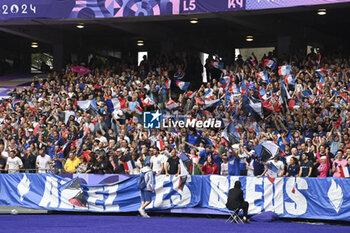
<path fill-rule="evenodd" d="M 343 2 L 350 0 L 2 0 L 0 20 L 178 15 Z"/>

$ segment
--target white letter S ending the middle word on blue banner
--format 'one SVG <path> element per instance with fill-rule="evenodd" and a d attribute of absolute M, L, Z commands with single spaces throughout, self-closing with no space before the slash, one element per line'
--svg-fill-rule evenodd
<path fill-rule="evenodd" d="M 173 189 L 179 195 L 172 195 L 171 201 L 175 206 L 186 206 L 191 202 L 191 190 L 184 185 L 183 190 L 179 189 L 180 176 L 173 177 Z M 191 176 L 187 176 L 186 183 L 191 182 Z"/>

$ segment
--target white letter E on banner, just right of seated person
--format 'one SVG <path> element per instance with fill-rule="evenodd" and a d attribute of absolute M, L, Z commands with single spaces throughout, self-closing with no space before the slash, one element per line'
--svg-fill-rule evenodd
<path fill-rule="evenodd" d="M 262 192 L 255 191 L 256 185 L 262 185 L 263 178 L 247 176 L 246 178 L 246 201 L 249 203 L 250 214 L 258 214 L 261 212 L 261 206 L 256 206 L 255 201 L 262 199 Z"/>

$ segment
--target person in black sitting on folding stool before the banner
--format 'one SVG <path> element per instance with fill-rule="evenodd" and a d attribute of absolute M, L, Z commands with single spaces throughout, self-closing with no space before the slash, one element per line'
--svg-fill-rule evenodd
<path fill-rule="evenodd" d="M 227 203 L 226 207 L 229 210 L 236 211 L 236 214 L 238 214 L 239 210 L 243 210 L 243 221 L 245 223 L 249 223 L 248 221 L 248 208 L 249 208 L 249 203 L 244 201 L 243 198 L 243 191 L 241 189 L 241 182 L 237 180 L 235 182 L 235 186 L 230 189 L 228 192 L 228 198 L 227 198 Z"/>

